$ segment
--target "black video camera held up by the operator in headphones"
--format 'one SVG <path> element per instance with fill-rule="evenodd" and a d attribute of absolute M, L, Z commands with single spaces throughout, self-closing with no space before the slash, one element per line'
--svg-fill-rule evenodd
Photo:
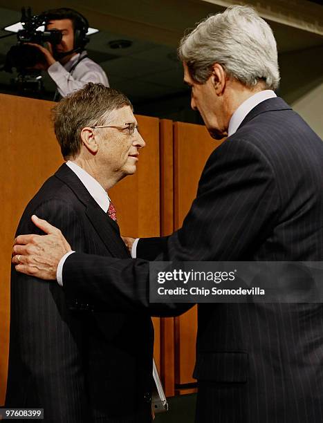
<path fill-rule="evenodd" d="M 21 23 L 24 29 L 17 32 L 18 43 L 12 46 L 6 55 L 6 63 L 3 70 L 12 73 L 16 68 L 19 75 L 40 74 L 33 67 L 44 62 L 44 55 L 34 46 L 27 43 L 35 43 L 44 46 L 44 43 L 59 44 L 62 33 L 59 30 L 39 30 L 46 23 L 45 15 L 32 15 L 30 8 L 21 9 Z"/>

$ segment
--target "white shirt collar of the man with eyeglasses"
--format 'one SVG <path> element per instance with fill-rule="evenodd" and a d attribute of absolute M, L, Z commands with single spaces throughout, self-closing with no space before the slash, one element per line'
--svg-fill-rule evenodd
<path fill-rule="evenodd" d="M 84 171 L 84 169 L 78 166 L 75 162 L 68 160 L 66 165 L 75 173 L 77 178 L 80 179 L 84 187 L 86 187 L 89 194 L 94 198 L 96 203 L 98 203 L 104 213 L 107 213 L 110 205 L 110 198 L 107 191 L 105 191 L 105 189 L 93 178 L 93 176 Z"/>

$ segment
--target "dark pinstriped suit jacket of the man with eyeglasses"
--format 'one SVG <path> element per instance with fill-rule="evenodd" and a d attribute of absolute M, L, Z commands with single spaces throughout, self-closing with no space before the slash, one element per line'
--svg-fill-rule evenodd
<path fill-rule="evenodd" d="M 30 201 L 17 234 L 35 232 L 32 214 L 62 227 L 77 251 L 129 257 L 118 225 L 66 164 Z M 12 268 L 6 406 L 44 408 L 46 422 L 150 422 L 150 317 L 93 311 L 86 295 L 68 308 L 57 283 Z"/>

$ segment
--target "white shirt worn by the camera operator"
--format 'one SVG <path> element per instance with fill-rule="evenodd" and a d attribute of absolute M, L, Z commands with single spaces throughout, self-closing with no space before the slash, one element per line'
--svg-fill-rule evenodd
<path fill-rule="evenodd" d="M 86 50 L 84 50 L 82 53 L 73 56 L 64 66 L 59 62 L 55 62 L 47 69 L 48 75 L 54 80 L 62 97 L 66 97 L 72 91 L 82 88 L 87 82 L 100 82 L 105 86 L 109 86 L 107 75 L 101 66 L 93 62 L 89 57 L 84 57 L 86 54 Z M 77 63 L 78 61 L 80 62 Z"/>

